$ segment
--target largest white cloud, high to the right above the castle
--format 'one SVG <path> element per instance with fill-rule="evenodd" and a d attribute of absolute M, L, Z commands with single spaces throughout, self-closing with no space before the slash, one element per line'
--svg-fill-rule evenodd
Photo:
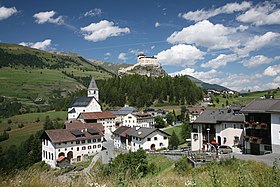
<path fill-rule="evenodd" d="M 229 34 L 235 33 L 236 28 L 225 27 L 222 24 L 212 24 L 204 20 L 184 28 L 179 32 L 174 32 L 167 38 L 167 41 L 174 43 L 196 44 L 209 49 L 226 49 L 239 45 L 238 41 L 228 38 Z"/>

